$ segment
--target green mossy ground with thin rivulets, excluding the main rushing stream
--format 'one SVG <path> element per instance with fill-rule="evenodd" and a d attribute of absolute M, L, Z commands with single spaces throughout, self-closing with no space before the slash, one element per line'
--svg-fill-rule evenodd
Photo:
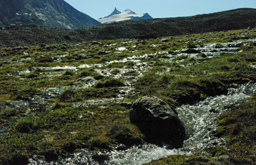
<path fill-rule="evenodd" d="M 129 107 L 120 106 L 117 99 L 125 81 L 134 90 L 122 102 L 156 95 L 177 107 L 226 93 L 232 83 L 256 80 L 256 46 L 248 38 L 256 38 L 256 29 L 169 36 L 164 42 L 120 39 L 0 49 L 0 164 L 26 164 L 33 155 L 52 161 L 78 148 L 143 143 L 143 134 L 129 121 Z M 182 49 L 237 40 L 243 44 L 233 53 L 175 57 Z M 126 60 L 145 54 L 140 61 Z M 84 88 L 86 83 L 77 80 L 88 76 L 96 83 Z M 54 88 L 63 90 L 31 104 Z M 109 98 L 116 101 L 88 104 L 88 100 Z M 21 101 L 28 105 L 15 106 Z M 228 155 L 231 164 L 255 164 L 255 117 L 252 97 L 216 122 L 214 134 L 227 138 L 227 146 L 212 147 L 205 151 L 207 155 L 172 155 L 149 164 L 210 164 L 212 157 L 220 155 Z"/>

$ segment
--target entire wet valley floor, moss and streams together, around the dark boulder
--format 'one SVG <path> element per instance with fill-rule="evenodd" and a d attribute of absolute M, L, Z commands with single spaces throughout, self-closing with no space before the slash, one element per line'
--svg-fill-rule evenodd
<path fill-rule="evenodd" d="M 241 29 L 0 49 L 0 164 L 254 164 L 255 47 Z M 175 108 L 184 147 L 148 144 L 130 122 L 147 95 Z M 200 101 L 204 124 L 182 110 Z"/>

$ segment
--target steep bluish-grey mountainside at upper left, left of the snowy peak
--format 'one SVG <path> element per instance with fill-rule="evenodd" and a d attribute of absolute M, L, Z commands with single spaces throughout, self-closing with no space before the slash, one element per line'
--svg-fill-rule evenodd
<path fill-rule="evenodd" d="M 1 0 L 0 26 L 36 24 L 77 29 L 100 24 L 63 0 Z"/>

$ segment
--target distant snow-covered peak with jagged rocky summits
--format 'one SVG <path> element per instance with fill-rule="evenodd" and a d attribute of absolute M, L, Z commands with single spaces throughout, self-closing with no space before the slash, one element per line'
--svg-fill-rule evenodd
<path fill-rule="evenodd" d="M 110 24 L 113 22 L 119 22 L 123 20 L 141 20 L 141 19 L 153 19 L 153 18 L 150 15 L 148 15 L 148 13 L 137 14 L 128 9 L 121 13 L 115 8 L 114 12 L 112 12 L 107 17 L 98 19 L 98 21 L 102 24 Z"/>

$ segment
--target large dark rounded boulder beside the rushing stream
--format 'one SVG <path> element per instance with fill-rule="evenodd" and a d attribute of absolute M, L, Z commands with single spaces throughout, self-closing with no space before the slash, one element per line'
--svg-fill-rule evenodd
<path fill-rule="evenodd" d="M 141 97 L 133 102 L 130 120 L 150 143 L 167 143 L 171 148 L 180 148 L 186 138 L 184 123 L 177 112 L 154 96 Z"/>

